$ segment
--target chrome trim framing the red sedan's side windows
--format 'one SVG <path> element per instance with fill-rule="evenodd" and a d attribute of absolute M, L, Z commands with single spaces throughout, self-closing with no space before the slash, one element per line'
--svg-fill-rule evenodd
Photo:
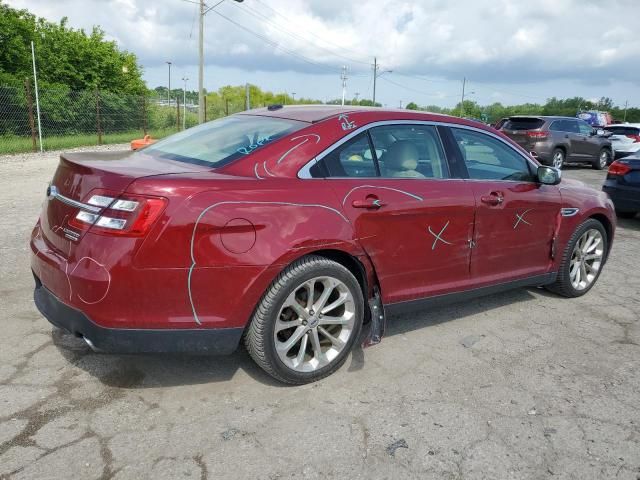
<path fill-rule="evenodd" d="M 432 120 L 381 120 L 381 121 L 378 121 L 378 122 L 367 123 L 366 125 L 363 125 L 363 126 L 357 128 L 356 130 L 350 132 L 348 135 L 345 135 L 344 137 L 342 137 L 336 143 L 334 143 L 334 144 L 330 145 L 329 147 L 327 147 L 326 149 L 324 149 L 322 152 L 320 152 L 314 158 L 309 160 L 307 163 L 305 163 L 302 166 L 302 168 L 300 168 L 298 170 L 298 174 L 297 174 L 298 178 L 314 180 L 314 177 L 311 176 L 310 169 L 311 169 L 311 167 L 313 167 L 313 165 L 315 163 L 317 163 L 320 160 L 322 160 L 324 157 L 329 155 L 331 152 L 333 152 L 340 145 L 348 142 L 350 139 L 352 139 L 356 135 L 359 135 L 362 132 L 370 130 L 371 128 L 385 126 L 385 125 L 430 125 L 430 126 L 433 126 L 433 127 L 443 126 L 443 127 L 449 127 L 449 128 L 461 128 L 461 129 L 471 130 L 471 131 L 478 132 L 478 133 L 483 133 L 485 135 L 493 137 L 496 140 L 502 142 L 504 145 L 506 145 L 511 150 L 516 152 L 518 155 L 520 155 L 534 169 L 534 171 L 538 168 L 538 165 L 536 165 L 535 162 L 533 162 L 529 157 L 527 157 L 527 155 L 523 154 L 521 151 L 519 151 L 518 149 L 514 148 L 514 146 L 511 145 L 509 142 L 505 141 L 499 135 L 496 135 L 495 133 L 489 132 L 487 130 L 483 130 L 482 128 L 471 127 L 469 125 L 460 125 L 458 123 L 436 122 L 436 121 L 432 121 Z M 438 132 L 438 136 L 440 136 L 439 132 Z M 443 148 L 443 150 L 444 150 L 444 148 Z M 445 154 L 446 154 L 446 150 L 445 150 Z M 330 180 L 332 178 L 338 178 L 338 177 L 322 177 L 321 179 L 320 178 L 315 178 L 315 180 Z M 353 180 L 355 178 L 382 179 L 384 177 L 377 177 L 376 176 L 376 177 L 342 177 L 342 178 L 343 179 L 344 178 L 348 178 L 348 179 Z M 399 180 L 399 179 L 396 179 L 396 180 Z M 415 179 L 403 179 L 403 180 L 425 180 L 425 179 L 423 179 L 423 178 L 415 178 Z M 489 181 L 489 180 L 481 180 L 481 179 L 474 179 L 474 178 L 437 178 L 437 179 L 432 179 L 432 180 L 472 180 L 472 181 L 482 181 L 482 182 Z M 490 180 L 490 181 L 522 183 L 522 180 Z"/>

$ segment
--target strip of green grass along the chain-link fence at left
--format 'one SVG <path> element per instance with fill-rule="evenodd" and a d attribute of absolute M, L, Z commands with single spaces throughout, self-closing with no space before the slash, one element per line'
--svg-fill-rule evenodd
<path fill-rule="evenodd" d="M 176 133 L 175 128 L 164 128 L 149 130 L 148 134 L 152 138 L 162 138 L 172 133 Z M 102 135 L 101 145 L 113 143 L 129 143 L 136 138 L 142 138 L 144 134 L 140 130 L 128 132 L 105 133 Z M 88 147 L 98 145 L 98 136 L 95 133 L 82 133 L 76 135 L 55 135 L 42 138 L 44 150 L 64 150 L 65 148 Z M 38 148 L 39 150 L 39 148 Z M 15 135 L 0 136 L 0 155 L 12 153 L 25 153 L 33 151 L 31 137 L 19 137 Z"/>

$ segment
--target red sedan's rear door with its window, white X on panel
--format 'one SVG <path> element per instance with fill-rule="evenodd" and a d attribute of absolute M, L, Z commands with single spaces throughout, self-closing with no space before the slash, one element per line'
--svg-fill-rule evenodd
<path fill-rule="evenodd" d="M 451 178 L 433 125 L 373 126 L 310 171 L 331 182 L 385 304 L 469 284 L 475 200 L 467 182 Z"/>

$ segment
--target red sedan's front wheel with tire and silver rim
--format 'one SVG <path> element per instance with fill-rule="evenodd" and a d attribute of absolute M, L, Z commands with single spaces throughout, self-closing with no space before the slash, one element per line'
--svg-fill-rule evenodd
<path fill-rule="evenodd" d="M 595 285 L 607 255 L 607 232 L 593 218 L 583 222 L 562 254 L 558 277 L 548 290 L 563 297 L 581 297 Z"/>

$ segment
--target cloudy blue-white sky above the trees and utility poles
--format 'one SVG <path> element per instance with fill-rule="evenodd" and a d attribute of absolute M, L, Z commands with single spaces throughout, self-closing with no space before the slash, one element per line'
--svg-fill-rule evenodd
<path fill-rule="evenodd" d="M 192 0 L 5 0 L 74 27 L 100 25 L 134 52 L 149 86 L 197 79 Z M 213 5 L 218 0 L 211 0 Z M 323 100 L 454 105 L 608 96 L 640 106 L 638 0 L 224 0 L 205 18 L 205 87 L 250 82 Z"/>

